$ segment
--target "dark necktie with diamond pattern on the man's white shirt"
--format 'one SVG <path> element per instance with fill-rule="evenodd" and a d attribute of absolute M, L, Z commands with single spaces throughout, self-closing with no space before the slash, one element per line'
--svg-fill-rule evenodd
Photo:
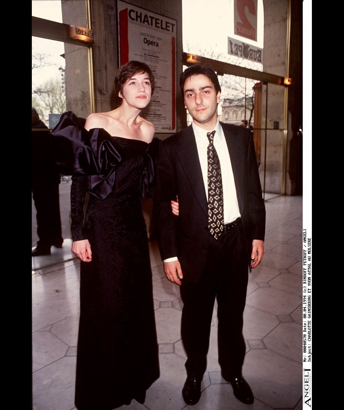
<path fill-rule="evenodd" d="M 214 147 L 215 130 L 207 133 L 208 154 L 208 225 L 215 239 L 221 235 L 224 227 L 223 188 L 220 160 Z"/>

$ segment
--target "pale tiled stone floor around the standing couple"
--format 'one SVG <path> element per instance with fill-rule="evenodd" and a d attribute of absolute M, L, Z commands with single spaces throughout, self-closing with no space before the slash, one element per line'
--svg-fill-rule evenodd
<path fill-rule="evenodd" d="M 263 262 L 249 275 L 244 311 L 247 353 L 243 374 L 255 396 L 253 405 L 236 400 L 231 386 L 221 376 L 217 362 L 216 305 L 201 399 L 195 406 L 185 405 L 181 395 L 186 378 L 180 335 L 182 302 L 177 285 L 165 278 L 156 241 L 151 241 L 161 377 L 147 391 L 144 405 L 133 400 L 121 409 L 302 408 L 302 197 L 271 198 L 265 205 L 266 252 Z M 50 257 L 48 267 L 40 268 L 47 265 L 44 257 L 33 258 L 33 406 L 34 410 L 71 410 L 75 409 L 79 261 L 71 259 L 68 240 L 62 250 L 52 248 L 52 252 L 63 255 L 60 259 Z"/>

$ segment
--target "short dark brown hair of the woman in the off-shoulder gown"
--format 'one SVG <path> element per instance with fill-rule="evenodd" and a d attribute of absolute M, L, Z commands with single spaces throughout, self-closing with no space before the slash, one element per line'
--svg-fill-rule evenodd
<path fill-rule="evenodd" d="M 147 73 L 153 94 L 155 88 L 155 80 L 152 70 L 149 68 L 149 66 L 147 66 L 147 64 L 141 63 L 140 61 L 131 60 L 118 68 L 114 80 L 115 95 L 113 99 L 115 108 L 118 108 L 122 104 L 122 98 L 120 98 L 118 94 L 123 92 L 123 86 L 127 82 L 127 80 L 129 80 L 129 78 L 133 77 L 135 74 L 142 73 Z"/>

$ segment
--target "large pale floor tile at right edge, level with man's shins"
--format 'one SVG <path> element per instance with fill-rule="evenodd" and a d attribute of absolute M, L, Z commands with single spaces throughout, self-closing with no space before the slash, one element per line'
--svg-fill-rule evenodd
<path fill-rule="evenodd" d="M 300 323 L 284 322 L 264 337 L 263 342 L 268 349 L 301 363 L 301 333 L 302 325 Z"/>

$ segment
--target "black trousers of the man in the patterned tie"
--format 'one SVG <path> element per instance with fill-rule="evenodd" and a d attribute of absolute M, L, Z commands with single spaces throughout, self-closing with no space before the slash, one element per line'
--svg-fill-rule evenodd
<path fill-rule="evenodd" d="M 217 298 L 218 351 L 222 371 L 241 374 L 246 346 L 242 335 L 248 264 L 242 223 L 210 239 L 206 269 L 198 283 L 182 280 L 181 336 L 189 376 L 203 377 L 210 326 Z M 183 266 L 182 266 L 183 269 Z M 184 273 L 184 278 L 187 276 Z"/>

